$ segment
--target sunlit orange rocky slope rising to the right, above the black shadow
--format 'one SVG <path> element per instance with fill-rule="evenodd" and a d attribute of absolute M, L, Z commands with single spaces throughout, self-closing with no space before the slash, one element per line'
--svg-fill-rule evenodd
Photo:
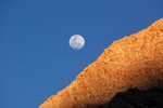
<path fill-rule="evenodd" d="M 143 90 L 158 83 L 163 83 L 163 18 L 113 42 L 68 86 L 39 108 L 98 108 L 117 92 Z"/>

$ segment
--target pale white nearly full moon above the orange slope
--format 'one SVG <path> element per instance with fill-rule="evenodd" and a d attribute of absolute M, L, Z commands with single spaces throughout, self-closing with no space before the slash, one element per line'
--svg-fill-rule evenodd
<path fill-rule="evenodd" d="M 80 35 L 74 35 L 70 38 L 70 46 L 74 50 L 80 50 L 85 45 L 85 39 Z"/>

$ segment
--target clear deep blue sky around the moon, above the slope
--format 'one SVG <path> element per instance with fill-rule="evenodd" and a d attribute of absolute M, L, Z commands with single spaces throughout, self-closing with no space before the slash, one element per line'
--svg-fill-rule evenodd
<path fill-rule="evenodd" d="M 37 108 L 113 41 L 163 17 L 163 0 L 0 0 L 1 108 Z M 86 44 L 73 50 L 68 39 Z"/>

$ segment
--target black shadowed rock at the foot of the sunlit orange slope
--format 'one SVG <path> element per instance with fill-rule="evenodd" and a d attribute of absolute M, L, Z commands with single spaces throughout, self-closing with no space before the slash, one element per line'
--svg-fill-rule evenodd
<path fill-rule="evenodd" d="M 101 108 L 163 108 L 163 85 L 117 93 L 108 106 Z"/>

